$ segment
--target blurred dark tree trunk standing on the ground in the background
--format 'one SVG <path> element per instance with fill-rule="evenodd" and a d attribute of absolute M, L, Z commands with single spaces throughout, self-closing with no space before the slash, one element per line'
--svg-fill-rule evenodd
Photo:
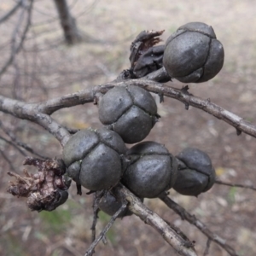
<path fill-rule="evenodd" d="M 76 44 L 81 41 L 81 35 L 76 25 L 76 20 L 70 13 L 67 0 L 54 0 L 56 9 L 60 16 L 61 26 L 67 44 Z"/>

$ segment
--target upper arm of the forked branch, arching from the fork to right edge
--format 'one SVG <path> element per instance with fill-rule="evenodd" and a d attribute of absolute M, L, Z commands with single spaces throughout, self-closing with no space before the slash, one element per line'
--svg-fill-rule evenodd
<path fill-rule="evenodd" d="M 88 102 L 94 102 L 96 100 L 97 93 L 106 93 L 108 90 L 112 89 L 114 86 L 129 86 L 137 85 L 144 88 L 150 92 L 154 92 L 158 95 L 171 97 L 186 105 L 191 105 L 195 108 L 200 108 L 201 110 L 212 114 L 218 119 L 224 120 L 224 122 L 236 128 L 236 131 L 242 131 L 252 137 L 256 137 L 256 126 L 250 124 L 246 120 L 242 119 L 235 113 L 219 107 L 217 104 L 210 102 L 209 99 L 203 100 L 200 97 L 189 95 L 188 92 L 184 90 L 178 90 L 167 86 L 166 84 L 160 84 L 151 80 L 146 79 L 131 79 L 122 82 L 111 82 L 107 84 L 102 84 L 94 86 L 91 89 L 81 90 L 77 93 L 70 94 L 67 96 L 62 96 L 60 98 L 55 98 L 48 102 L 44 102 L 40 106 L 44 113 L 54 113 L 56 110 L 61 108 L 69 108 L 79 104 L 84 104 Z"/>

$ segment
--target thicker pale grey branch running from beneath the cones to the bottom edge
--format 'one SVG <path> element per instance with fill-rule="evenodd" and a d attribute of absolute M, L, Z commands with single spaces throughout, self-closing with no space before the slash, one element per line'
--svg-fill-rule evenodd
<path fill-rule="evenodd" d="M 143 220 L 145 224 L 149 224 L 160 233 L 162 236 L 180 255 L 183 256 L 196 256 L 194 244 L 188 241 L 184 236 L 177 233 L 177 230 L 172 229 L 159 215 L 152 212 L 143 205 L 135 195 L 131 193 L 125 186 L 119 184 L 118 187 L 113 189 L 115 195 L 119 198 L 125 196 L 125 200 L 129 202 L 129 210 Z"/>

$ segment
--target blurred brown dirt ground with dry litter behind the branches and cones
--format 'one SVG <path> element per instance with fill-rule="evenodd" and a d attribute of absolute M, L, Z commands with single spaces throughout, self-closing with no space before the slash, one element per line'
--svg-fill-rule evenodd
<path fill-rule="evenodd" d="M 221 72 L 202 84 L 189 84 L 190 93 L 236 113 L 256 125 L 256 1 L 70 1 L 72 13 L 84 42 L 68 47 L 61 42 L 61 29 L 51 1 L 36 1 L 32 29 L 26 44 L 0 78 L 1 94 L 26 102 L 44 101 L 93 85 L 111 81 L 129 67 L 129 46 L 143 30 L 163 30 L 163 40 L 190 21 L 211 25 L 224 45 L 225 61 Z M 13 6 L 1 1 L 0 16 Z M 15 20 L 0 24 L 0 67 L 9 55 L 9 37 Z M 47 21 L 47 22 L 46 22 Z M 164 44 L 164 43 L 163 43 Z M 170 86 L 184 84 L 173 80 Z M 155 96 L 159 102 L 158 96 Z M 165 144 L 174 155 L 183 148 L 205 150 L 212 159 L 219 179 L 231 183 L 256 183 L 255 139 L 224 121 L 196 108 L 185 110 L 181 102 L 165 98 L 158 104 L 160 122 L 146 140 Z M 92 104 L 62 109 L 53 117 L 76 129 L 100 127 L 97 108 Z M 61 146 L 46 131 L 25 120 L 0 113 L 2 125 L 38 153 L 60 156 Z M 0 137 L 6 137 L 3 130 Z M 76 195 L 73 184 L 67 203 L 55 212 L 30 212 L 24 200 L 6 193 L 8 171 L 21 173 L 24 156 L 0 139 L 0 255 L 67 256 L 84 255 L 90 246 L 92 196 Z M 256 192 L 215 184 L 198 198 L 178 195 L 170 190 L 172 200 L 222 236 L 241 256 L 256 255 Z M 160 200 L 145 204 L 168 222 L 177 225 L 191 241 L 198 255 L 203 255 L 207 237 L 185 223 Z M 97 232 L 108 223 L 102 213 Z M 108 244 L 96 247 L 95 255 L 177 255 L 150 226 L 136 216 L 116 221 L 108 232 Z M 213 242 L 208 255 L 226 256 Z"/>

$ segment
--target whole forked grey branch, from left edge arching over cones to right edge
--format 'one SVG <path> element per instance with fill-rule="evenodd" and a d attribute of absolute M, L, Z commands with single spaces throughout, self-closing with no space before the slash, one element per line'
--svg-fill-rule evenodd
<path fill-rule="evenodd" d="M 147 79 L 130 79 L 122 82 L 110 82 L 107 84 L 97 85 L 90 89 L 80 90 L 79 92 L 68 94 L 66 96 L 57 97 L 41 103 L 25 103 L 0 96 L 0 111 L 10 113 L 20 119 L 29 119 L 38 125 L 43 126 L 47 131 L 53 134 L 63 146 L 70 137 L 67 128 L 57 124 L 49 117 L 50 114 L 61 108 L 70 108 L 89 102 L 97 102 L 98 95 L 106 93 L 114 86 L 137 85 L 145 90 L 154 92 L 160 96 L 168 96 L 183 102 L 185 106 L 193 106 L 212 114 L 218 119 L 232 125 L 236 131 L 242 131 L 252 137 L 256 137 L 256 126 L 245 121 L 235 113 L 219 107 L 199 97 L 190 95 L 186 90 L 178 90 Z"/>

